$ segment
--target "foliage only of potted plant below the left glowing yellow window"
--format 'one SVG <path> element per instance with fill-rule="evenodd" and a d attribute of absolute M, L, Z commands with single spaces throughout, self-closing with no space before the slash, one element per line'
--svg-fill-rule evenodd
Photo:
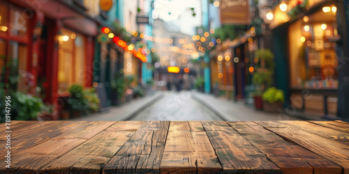
<path fill-rule="evenodd" d="M 68 98 L 68 104 L 72 109 L 85 111 L 89 108 L 88 100 L 84 98 L 84 92 L 81 85 L 74 84 L 69 88 L 70 97 Z"/>

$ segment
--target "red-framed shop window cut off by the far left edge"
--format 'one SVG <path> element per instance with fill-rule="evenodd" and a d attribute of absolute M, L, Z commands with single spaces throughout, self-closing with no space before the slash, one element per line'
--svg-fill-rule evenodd
<path fill-rule="evenodd" d="M 0 3 L 0 80 L 27 92 L 33 75 L 27 70 L 29 15 L 26 10 Z"/>

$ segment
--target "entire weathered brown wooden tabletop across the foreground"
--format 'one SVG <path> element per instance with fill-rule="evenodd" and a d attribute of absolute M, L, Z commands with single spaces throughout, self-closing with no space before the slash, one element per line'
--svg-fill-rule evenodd
<path fill-rule="evenodd" d="M 13 121 L 0 173 L 349 173 L 341 121 Z M 2 132 L 6 131 L 1 124 Z M 5 134 L 5 133 L 3 133 Z"/>

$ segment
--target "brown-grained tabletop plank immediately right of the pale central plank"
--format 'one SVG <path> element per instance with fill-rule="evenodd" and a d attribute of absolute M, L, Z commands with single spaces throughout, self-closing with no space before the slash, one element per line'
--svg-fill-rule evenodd
<path fill-rule="evenodd" d="M 281 173 L 272 161 L 226 122 L 203 121 L 225 173 Z"/>

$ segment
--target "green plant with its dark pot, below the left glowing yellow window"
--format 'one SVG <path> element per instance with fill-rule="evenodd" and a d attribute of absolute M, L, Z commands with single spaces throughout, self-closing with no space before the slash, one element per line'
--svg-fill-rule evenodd
<path fill-rule="evenodd" d="M 82 86 L 78 84 L 70 86 L 69 93 L 70 118 L 80 117 L 88 109 L 88 100 L 84 98 Z"/>

